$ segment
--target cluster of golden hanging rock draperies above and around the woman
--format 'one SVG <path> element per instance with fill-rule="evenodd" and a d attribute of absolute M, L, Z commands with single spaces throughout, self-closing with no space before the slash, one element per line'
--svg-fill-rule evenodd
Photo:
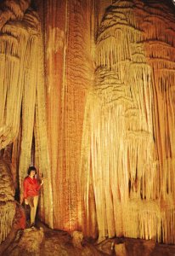
<path fill-rule="evenodd" d="M 39 16 L 30 3 L 3 1 L 1 5 L 0 149 L 14 143 L 11 158 L 16 168 L 14 176 L 18 173 L 21 199 L 22 182 L 34 158 L 39 175 L 48 177 L 42 194 L 43 212 L 52 227 L 42 31 Z M 31 153 L 33 141 L 35 154 Z"/>

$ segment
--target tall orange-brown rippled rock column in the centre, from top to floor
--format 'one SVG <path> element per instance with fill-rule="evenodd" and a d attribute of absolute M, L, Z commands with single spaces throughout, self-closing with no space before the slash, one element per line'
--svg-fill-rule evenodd
<path fill-rule="evenodd" d="M 48 1 L 45 28 L 48 143 L 54 227 L 82 229 L 79 163 L 82 123 L 92 83 L 89 1 Z M 53 18 L 54 17 L 54 18 Z"/>

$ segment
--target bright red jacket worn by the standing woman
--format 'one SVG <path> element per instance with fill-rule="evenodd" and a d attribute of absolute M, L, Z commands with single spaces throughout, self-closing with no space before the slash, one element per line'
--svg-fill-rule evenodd
<path fill-rule="evenodd" d="M 25 177 L 24 180 L 24 199 L 28 196 L 35 196 L 39 194 L 39 189 L 41 185 L 37 183 L 37 178 Z"/>

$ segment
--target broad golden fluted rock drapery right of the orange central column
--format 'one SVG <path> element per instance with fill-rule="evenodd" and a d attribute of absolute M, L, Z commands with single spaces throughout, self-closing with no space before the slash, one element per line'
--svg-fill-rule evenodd
<path fill-rule="evenodd" d="M 175 242 L 174 21 L 165 2 L 121 0 L 99 26 L 82 143 L 99 236 Z"/>

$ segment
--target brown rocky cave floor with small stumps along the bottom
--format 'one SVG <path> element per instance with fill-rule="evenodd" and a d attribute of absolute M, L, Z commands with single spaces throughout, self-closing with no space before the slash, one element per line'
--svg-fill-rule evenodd
<path fill-rule="evenodd" d="M 175 256 L 175 246 L 131 238 L 102 241 L 82 239 L 81 232 L 50 230 L 42 223 L 37 228 L 19 230 L 4 256 Z"/>

